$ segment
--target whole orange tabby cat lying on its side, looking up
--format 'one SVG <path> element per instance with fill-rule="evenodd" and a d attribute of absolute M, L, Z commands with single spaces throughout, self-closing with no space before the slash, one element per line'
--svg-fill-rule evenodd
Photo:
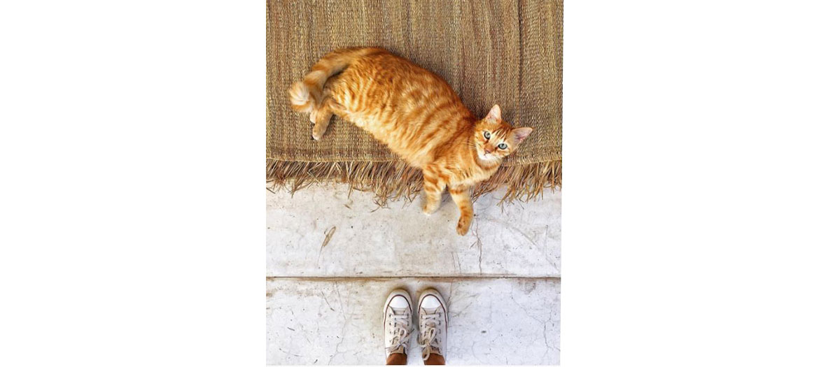
<path fill-rule="evenodd" d="M 485 181 L 533 130 L 514 128 L 499 106 L 478 120 L 447 82 L 386 49 L 338 49 L 320 59 L 290 89 L 292 108 L 310 113 L 313 139 L 331 115 L 348 120 L 422 170 L 425 214 L 439 208 L 448 186 L 462 214 L 456 232 L 468 233 L 468 190 Z"/>

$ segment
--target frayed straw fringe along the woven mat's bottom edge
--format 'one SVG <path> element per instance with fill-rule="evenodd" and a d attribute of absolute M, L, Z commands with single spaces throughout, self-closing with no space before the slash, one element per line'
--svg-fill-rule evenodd
<path fill-rule="evenodd" d="M 404 162 L 292 162 L 267 159 L 267 182 L 295 194 L 307 186 L 335 181 L 349 184 L 350 192 L 373 191 L 377 205 L 387 200 L 412 201 L 421 191 L 421 171 Z M 487 181 L 478 184 L 471 198 L 506 186 L 499 205 L 513 200 L 542 197 L 544 189 L 562 186 L 562 161 L 500 167 Z"/>

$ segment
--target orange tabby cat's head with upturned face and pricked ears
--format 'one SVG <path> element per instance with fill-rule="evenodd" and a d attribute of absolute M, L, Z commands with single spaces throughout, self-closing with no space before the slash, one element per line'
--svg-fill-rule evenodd
<path fill-rule="evenodd" d="M 534 129 L 514 128 L 507 121 L 502 120 L 499 105 L 494 105 L 487 116 L 476 124 L 476 131 L 473 135 L 476 153 L 484 161 L 501 160 L 508 154 L 514 153 L 531 131 Z"/>

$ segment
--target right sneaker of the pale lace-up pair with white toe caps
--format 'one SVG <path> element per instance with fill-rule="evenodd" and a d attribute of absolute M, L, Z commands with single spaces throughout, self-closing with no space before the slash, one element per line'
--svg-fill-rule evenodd
<path fill-rule="evenodd" d="M 448 347 L 448 306 L 436 289 L 426 289 L 419 296 L 419 346 L 421 357 L 430 353 L 444 356 Z"/>

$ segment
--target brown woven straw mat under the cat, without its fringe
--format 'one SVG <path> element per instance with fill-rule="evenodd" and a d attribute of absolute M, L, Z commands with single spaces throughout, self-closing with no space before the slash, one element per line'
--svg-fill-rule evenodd
<path fill-rule="evenodd" d="M 534 128 L 504 167 L 562 160 L 561 0 L 269 0 L 268 162 L 399 160 L 337 117 L 314 141 L 309 116 L 290 108 L 290 85 L 352 46 L 380 46 L 438 74 L 479 117 L 499 104 L 505 120 Z"/>

